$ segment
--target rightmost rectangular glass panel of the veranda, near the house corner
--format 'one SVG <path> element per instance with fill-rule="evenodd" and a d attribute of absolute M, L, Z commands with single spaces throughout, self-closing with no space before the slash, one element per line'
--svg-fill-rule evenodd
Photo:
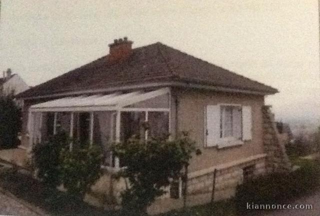
<path fill-rule="evenodd" d="M 163 137 L 169 134 L 169 113 L 148 112 L 149 137 Z"/>

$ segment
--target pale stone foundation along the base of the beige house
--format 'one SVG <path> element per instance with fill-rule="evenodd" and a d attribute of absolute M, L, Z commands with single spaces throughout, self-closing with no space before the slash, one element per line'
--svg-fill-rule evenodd
<path fill-rule="evenodd" d="M 213 187 L 213 175 L 215 175 L 214 201 L 234 197 L 236 186 L 243 182 L 243 168 L 254 166 L 253 177 L 265 173 L 265 154 L 255 155 L 239 161 L 218 165 L 204 170 L 188 174 L 187 182 L 187 206 L 206 204 L 211 201 Z M 105 171 L 103 176 L 86 195 L 85 201 L 91 205 L 106 209 L 120 208 L 120 193 L 125 190 L 123 179 L 115 180 L 112 173 Z M 149 207 L 149 213 L 158 214 L 183 206 L 183 199 L 170 198 L 168 193 L 157 198 Z"/>

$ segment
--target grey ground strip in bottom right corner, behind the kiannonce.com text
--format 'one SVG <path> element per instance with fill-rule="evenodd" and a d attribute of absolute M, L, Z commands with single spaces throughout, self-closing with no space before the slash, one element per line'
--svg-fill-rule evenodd
<path fill-rule="evenodd" d="M 301 210 L 301 209 L 291 209 L 291 210 L 276 210 L 274 212 L 261 214 L 263 216 L 320 216 L 320 192 L 307 197 L 302 197 L 291 203 L 286 203 L 294 205 L 312 205 L 312 210 Z M 261 210 L 262 211 L 262 210 Z"/>

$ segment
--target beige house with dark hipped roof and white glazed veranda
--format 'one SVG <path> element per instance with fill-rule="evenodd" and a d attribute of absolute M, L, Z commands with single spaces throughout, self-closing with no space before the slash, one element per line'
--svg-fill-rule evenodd
<path fill-rule="evenodd" d="M 132 48 L 124 37 L 106 56 L 17 95 L 24 101 L 22 145 L 30 149 L 61 129 L 101 145 L 105 174 L 92 190 L 117 198 L 124 183 L 112 180 L 121 161 L 112 157 L 111 141 L 189 131 L 202 154 L 191 160 L 187 194 L 211 194 L 215 173 L 215 199 L 224 199 L 251 176 L 289 169 L 264 105 L 277 92 L 159 42 Z M 172 187 L 175 197 L 181 185 Z M 172 204 L 170 194 L 162 198 Z"/>

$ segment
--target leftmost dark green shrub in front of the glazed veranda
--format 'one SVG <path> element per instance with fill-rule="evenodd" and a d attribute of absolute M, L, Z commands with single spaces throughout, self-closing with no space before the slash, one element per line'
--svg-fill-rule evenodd
<path fill-rule="evenodd" d="M 32 165 L 37 177 L 50 188 L 61 184 L 60 152 L 69 144 L 64 131 L 49 137 L 48 141 L 36 144 L 32 149 Z"/>

